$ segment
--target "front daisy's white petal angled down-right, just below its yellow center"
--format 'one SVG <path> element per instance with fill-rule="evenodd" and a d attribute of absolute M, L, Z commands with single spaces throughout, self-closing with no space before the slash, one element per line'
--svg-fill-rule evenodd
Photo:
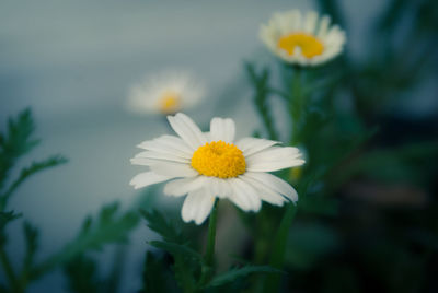
<path fill-rule="evenodd" d="M 229 199 L 243 211 L 258 211 L 262 201 L 257 197 L 255 189 L 240 178 L 229 179 L 233 194 Z"/>

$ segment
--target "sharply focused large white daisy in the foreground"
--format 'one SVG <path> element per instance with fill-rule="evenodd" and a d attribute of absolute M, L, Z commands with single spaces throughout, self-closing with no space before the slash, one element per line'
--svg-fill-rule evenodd
<path fill-rule="evenodd" d="M 176 136 L 162 136 L 140 143 L 145 151 L 131 159 L 149 171 L 132 178 L 136 189 L 166 180 L 164 194 L 185 198 L 182 218 L 201 224 L 216 198 L 228 198 L 243 211 L 258 211 L 262 200 L 275 206 L 298 200 L 295 189 L 269 172 L 304 163 L 297 148 L 277 141 L 234 140 L 230 118 L 212 118 L 210 132 L 201 132 L 186 115 L 168 116 Z"/>

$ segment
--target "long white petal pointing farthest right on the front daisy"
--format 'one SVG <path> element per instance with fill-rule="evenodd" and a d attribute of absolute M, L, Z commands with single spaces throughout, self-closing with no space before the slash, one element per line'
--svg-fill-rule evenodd
<path fill-rule="evenodd" d="M 304 164 L 297 148 L 272 146 L 246 157 L 246 171 L 273 172 Z"/>

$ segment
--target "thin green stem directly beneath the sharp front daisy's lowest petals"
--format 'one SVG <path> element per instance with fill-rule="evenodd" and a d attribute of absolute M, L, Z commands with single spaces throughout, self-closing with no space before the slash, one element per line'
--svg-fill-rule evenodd
<path fill-rule="evenodd" d="M 216 199 L 208 220 L 208 236 L 207 236 L 207 248 L 204 257 L 204 265 L 201 267 L 200 279 L 198 282 L 198 289 L 201 289 L 212 276 L 212 265 L 215 257 L 215 244 L 216 244 L 216 220 L 218 215 L 218 202 Z"/>

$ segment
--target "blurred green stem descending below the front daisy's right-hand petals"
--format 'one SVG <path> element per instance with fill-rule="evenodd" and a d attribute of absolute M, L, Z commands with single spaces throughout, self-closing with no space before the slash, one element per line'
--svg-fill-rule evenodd
<path fill-rule="evenodd" d="M 281 219 L 280 226 L 274 239 L 273 255 L 269 265 L 274 268 L 281 269 L 285 261 L 286 244 L 289 235 L 290 226 L 292 225 L 298 207 L 295 203 L 289 203 L 285 215 Z M 277 273 L 269 274 L 266 279 L 266 293 L 278 292 L 281 276 Z"/>

